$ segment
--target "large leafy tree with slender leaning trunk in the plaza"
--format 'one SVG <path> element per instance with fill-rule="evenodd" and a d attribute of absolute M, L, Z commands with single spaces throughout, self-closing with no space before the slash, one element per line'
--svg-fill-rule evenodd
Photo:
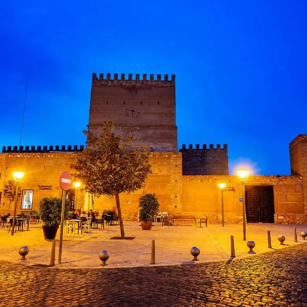
<path fill-rule="evenodd" d="M 113 133 L 114 123 L 105 122 L 100 135 L 83 131 L 87 135 L 87 148 L 77 153 L 74 176 L 84 184 L 84 190 L 99 198 L 102 194 L 115 196 L 121 238 L 125 238 L 119 194 L 133 192 L 142 187 L 151 172 L 149 149 L 134 148 L 132 135 L 123 137 Z"/>

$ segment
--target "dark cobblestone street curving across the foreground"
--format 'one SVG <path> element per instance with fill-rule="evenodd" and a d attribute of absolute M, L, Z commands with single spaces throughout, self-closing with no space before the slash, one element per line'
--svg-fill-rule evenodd
<path fill-rule="evenodd" d="M 1 306 L 307 306 L 307 245 L 207 264 L 63 270 L 0 262 Z"/>

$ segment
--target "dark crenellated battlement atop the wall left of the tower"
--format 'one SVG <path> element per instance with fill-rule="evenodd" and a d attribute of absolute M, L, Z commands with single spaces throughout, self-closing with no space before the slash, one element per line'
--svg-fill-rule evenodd
<path fill-rule="evenodd" d="M 48 146 L 3 146 L 2 153 L 6 152 L 74 152 L 74 151 L 82 151 L 84 149 L 84 145 L 50 145 Z"/>

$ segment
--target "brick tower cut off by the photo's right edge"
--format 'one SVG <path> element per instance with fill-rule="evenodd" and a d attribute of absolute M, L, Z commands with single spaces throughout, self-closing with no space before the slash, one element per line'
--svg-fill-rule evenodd
<path fill-rule="evenodd" d="M 298 135 L 289 144 L 289 150 L 291 174 L 302 177 L 304 207 L 305 214 L 307 214 L 307 135 Z"/>

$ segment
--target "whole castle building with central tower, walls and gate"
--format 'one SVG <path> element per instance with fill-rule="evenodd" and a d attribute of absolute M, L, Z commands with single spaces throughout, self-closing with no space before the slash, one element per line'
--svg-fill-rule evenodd
<path fill-rule="evenodd" d="M 175 76 L 121 74 L 92 76 L 89 129 L 112 120 L 115 132 L 132 132 L 137 145 L 151 150 L 152 173 L 144 187 L 121 194 L 125 220 L 136 220 L 139 197 L 156 193 L 160 211 L 169 215 L 208 216 L 209 223 L 220 223 L 221 190 L 225 182 L 225 222 L 242 222 L 242 185 L 229 176 L 227 144 L 182 145 L 177 149 Z M 297 136 L 289 145 L 291 176 L 250 176 L 245 183 L 248 223 L 307 223 L 307 135 Z M 0 153 L 0 213 L 12 212 L 12 204 L 3 196 L 12 172 L 25 171 L 20 183 L 23 190 L 17 212 L 36 209 L 43 196 L 61 196 L 58 179 L 70 171 L 75 152 L 83 146 L 4 146 Z M 75 191 L 68 192 L 74 199 Z M 79 193 L 75 208 L 82 209 L 84 193 Z M 100 212 L 116 208 L 115 200 L 101 196 L 94 199 Z"/>

